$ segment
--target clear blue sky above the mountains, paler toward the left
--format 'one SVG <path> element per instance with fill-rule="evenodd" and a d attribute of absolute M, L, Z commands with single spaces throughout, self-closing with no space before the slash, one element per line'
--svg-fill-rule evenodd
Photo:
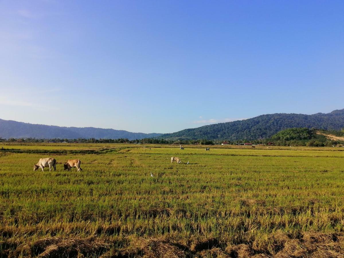
<path fill-rule="evenodd" d="M 174 132 L 344 108 L 344 1 L 0 0 L 0 118 Z"/>

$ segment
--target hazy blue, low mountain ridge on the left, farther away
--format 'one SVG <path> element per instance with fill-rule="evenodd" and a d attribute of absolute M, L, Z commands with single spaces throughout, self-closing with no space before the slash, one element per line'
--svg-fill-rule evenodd
<path fill-rule="evenodd" d="M 124 130 L 102 129 L 94 127 L 60 127 L 35 125 L 12 120 L 0 119 L 1 138 L 37 138 L 37 139 L 77 139 L 77 138 L 102 138 L 118 139 L 128 138 L 129 140 L 153 138 L 161 133 L 128 132 Z"/>

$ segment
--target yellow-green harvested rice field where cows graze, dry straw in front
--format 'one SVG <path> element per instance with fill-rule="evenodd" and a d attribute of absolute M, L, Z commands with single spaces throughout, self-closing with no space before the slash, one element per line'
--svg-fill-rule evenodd
<path fill-rule="evenodd" d="M 1 257 L 343 257 L 335 148 L 66 147 L 0 146 Z"/>

